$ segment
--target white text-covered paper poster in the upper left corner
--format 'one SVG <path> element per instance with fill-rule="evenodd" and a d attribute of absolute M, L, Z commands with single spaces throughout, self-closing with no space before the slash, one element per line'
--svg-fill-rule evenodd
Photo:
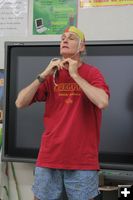
<path fill-rule="evenodd" d="M 28 0 L 0 1 L 0 37 L 27 35 Z"/>

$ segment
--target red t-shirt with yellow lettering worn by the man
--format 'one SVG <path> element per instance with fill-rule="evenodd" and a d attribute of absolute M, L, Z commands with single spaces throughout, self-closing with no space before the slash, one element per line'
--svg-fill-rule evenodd
<path fill-rule="evenodd" d="M 82 64 L 79 75 L 109 95 L 96 67 Z M 70 77 L 66 69 L 42 83 L 32 102 L 46 101 L 44 126 L 37 166 L 57 169 L 98 170 L 101 110 Z"/>

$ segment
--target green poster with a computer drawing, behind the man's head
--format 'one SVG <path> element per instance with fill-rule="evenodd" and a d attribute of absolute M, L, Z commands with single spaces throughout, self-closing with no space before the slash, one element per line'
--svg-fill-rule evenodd
<path fill-rule="evenodd" d="M 77 0 L 34 0 L 33 35 L 62 34 L 77 24 Z"/>

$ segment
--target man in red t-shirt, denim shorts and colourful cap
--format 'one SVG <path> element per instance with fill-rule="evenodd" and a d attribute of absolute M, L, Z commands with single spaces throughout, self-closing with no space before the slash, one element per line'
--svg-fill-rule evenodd
<path fill-rule="evenodd" d="M 52 59 L 16 100 L 18 108 L 45 101 L 45 134 L 36 163 L 33 192 L 38 200 L 98 195 L 98 148 L 102 109 L 109 89 L 96 67 L 81 61 L 84 34 L 72 26 L 61 37 L 61 59 Z"/>

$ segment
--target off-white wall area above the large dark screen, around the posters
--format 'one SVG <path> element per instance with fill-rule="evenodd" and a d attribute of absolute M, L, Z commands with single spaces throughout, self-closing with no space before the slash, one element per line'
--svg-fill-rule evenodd
<path fill-rule="evenodd" d="M 78 0 L 79 2 L 79 0 Z M 26 37 L 0 38 L 0 68 L 4 67 L 4 41 L 59 41 L 60 35 L 32 35 L 32 3 L 29 0 L 28 35 Z M 78 3 L 79 4 L 79 3 Z M 133 6 L 80 8 L 78 5 L 78 27 L 86 40 L 132 40 Z"/>

